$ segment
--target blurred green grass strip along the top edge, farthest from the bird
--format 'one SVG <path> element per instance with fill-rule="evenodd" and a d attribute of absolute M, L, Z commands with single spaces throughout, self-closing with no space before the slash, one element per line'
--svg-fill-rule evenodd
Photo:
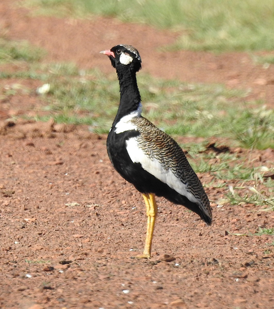
<path fill-rule="evenodd" d="M 182 35 L 171 49 L 257 51 L 274 49 L 272 0 L 21 0 L 40 14 L 90 14 L 124 22 L 176 29 Z"/>

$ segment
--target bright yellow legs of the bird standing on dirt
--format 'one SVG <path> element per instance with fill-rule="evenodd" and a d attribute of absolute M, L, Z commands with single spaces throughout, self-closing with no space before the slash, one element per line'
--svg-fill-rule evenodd
<path fill-rule="evenodd" d="M 157 217 L 158 209 L 157 209 L 154 193 L 143 194 L 143 197 L 144 197 L 145 206 L 146 206 L 147 228 L 146 228 L 144 252 L 141 256 L 137 256 L 137 257 L 138 258 L 150 258 L 153 231 L 154 231 L 155 220 Z"/>

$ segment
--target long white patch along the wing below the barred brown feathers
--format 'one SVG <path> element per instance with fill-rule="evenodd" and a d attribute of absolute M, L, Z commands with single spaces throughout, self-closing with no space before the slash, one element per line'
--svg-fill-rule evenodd
<path fill-rule="evenodd" d="M 187 184 L 182 183 L 171 170 L 164 168 L 157 159 L 150 159 L 145 155 L 143 150 L 138 147 L 136 137 L 129 138 L 126 141 L 126 149 L 133 163 L 141 163 L 145 171 L 167 184 L 179 194 L 187 197 L 189 201 L 200 204 L 200 201 L 187 191 Z"/>

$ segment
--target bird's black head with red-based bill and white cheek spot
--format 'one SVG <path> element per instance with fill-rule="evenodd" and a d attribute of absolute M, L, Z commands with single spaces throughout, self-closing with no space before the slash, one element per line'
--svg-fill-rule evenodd
<path fill-rule="evenodd" d="M 116 70 L 129 67 L 130 70 L 138 72 L 141 69 L 141 57 L 137 49 L 131 45 L 116 45 L 112 49 L 103 50 L 100 53 L 109 57 Z"/>

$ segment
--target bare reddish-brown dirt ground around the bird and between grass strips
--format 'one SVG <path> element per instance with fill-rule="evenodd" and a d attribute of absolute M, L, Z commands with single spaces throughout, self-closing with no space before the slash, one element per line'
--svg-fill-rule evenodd
<path fill-rule="evenodd" d="M 160 53 L 177 34 L 114 19 L 33 17 L 12 3 L 0 3 L 1 31 L 46 49 L 44 61 L 109 73 L 98 52 L 127 43 L 138 48 L 150 74 L 250 88 L 250 98 L 274 104 L 274 66 L 255 66 L 247 54 Z M 12 83 L 2 80 L 1 91 Z M 113 170 L 106 136 L 52 121 L 5 121 L 40 104 L 31 94 L 0 101 L 1 308 L 274 308 L 274 256 L 264 252 L 273 237 L 226 233 L 273 227 L 273 212 L 250 204 L 218 208 L 227 187 L 210 187 L 214 221 L 207 227 L 196 214 L 158 198 L 152 259 L 131 259 L 145 238 L 141 194 Z M 233 151 L 273 165 L 272 150 Z"/>

